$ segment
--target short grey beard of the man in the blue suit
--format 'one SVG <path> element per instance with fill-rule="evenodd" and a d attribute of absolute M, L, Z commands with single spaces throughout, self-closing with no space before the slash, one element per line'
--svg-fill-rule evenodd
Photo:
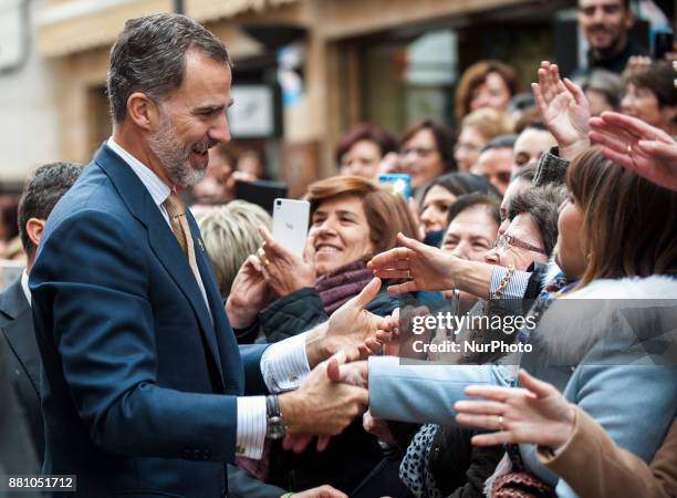
<path fill-rule="evenodd" d="M 210 147 L 213 144 L 210 141 L 205 145 Z M 148 146 L 174 185 L 192 187 L 207 175 L 207 167 L 197 169 L 190 165 L 191 147 L 181 145 L 171 120 L 165 113 L 160 114 L 158 131 L 148 136 Z"/>

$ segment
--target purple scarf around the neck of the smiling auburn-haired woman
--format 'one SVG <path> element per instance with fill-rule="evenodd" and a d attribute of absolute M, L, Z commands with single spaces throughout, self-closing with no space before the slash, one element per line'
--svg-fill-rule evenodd
<path fill-rule="evenodd" d="M 357 295 L 374 278 L 360 259 L 317 279 L 316 289 L 326 314 L 332 314 L 343 303 Z"/>

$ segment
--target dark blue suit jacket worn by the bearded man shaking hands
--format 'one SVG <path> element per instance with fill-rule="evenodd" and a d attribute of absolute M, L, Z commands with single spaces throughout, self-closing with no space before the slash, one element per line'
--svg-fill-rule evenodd
<path fill-rule="evenodd" d="M 188 221 L 213 323 L 169 225 L 106 145 L 48 220 L 30 276 L 43 470 L 77 474 L 77 496 L 226 492 L 236 396 L 265 391 L 265 346 L 238 351 Z"/>

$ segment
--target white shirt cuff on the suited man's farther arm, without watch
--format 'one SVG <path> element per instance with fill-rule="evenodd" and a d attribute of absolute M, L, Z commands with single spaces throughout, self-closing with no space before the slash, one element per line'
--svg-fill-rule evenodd
<path fill-rule="evenodd" d="M 261 357 L 261 374 L 270 393 L 292 391 L 310 373 L 305 339 L 308 333 L 275 342 Z"/>

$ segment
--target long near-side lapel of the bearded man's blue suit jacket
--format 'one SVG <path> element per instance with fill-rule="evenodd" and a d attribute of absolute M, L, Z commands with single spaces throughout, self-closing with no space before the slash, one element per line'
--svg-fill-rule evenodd
<path fill-rule="evenodd" d="M 140 179 L 121 157 L 106 145 L 103 145 L 94 156 L 94 160 L 108 175 L 132 215 L 147 228 L 148 241 L 153 251 L 176 284 L 181 289 L 181 292 L 195 311 L 200 324 L 200 331 L 221 376 L 221 384 L 223 384 L 213 324 L 209 318 L 209 311 L 202 299 L 197 280 L 176 237 L 171 232 L 171 228 L 169 228 L 169 225 Z M 206 280 L 205 277 L 202 279 Z"/>

